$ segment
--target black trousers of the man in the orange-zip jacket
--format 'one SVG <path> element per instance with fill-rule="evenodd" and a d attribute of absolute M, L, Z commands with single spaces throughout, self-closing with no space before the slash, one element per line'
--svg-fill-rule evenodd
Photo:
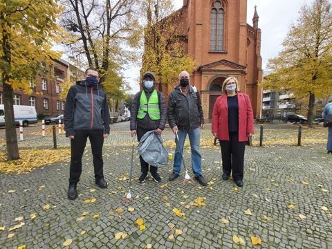
<path fill-rule="evenodd" d="M 104 144 L 103 130 L 75 130 L 75 139 L 71 139 L 71 172 L 69 183 L 78 183 L 82 174 L 82 156 L 89 138 L 95 169 L 95 181 L 104 178 L 102 167 L 102 145 Z"/>

